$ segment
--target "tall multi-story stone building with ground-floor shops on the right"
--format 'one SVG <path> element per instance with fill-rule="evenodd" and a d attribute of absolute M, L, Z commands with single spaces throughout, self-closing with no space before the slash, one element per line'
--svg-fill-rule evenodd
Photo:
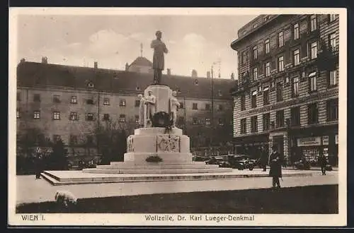
<path fill-rule="evenodd" d="M 261 15 L 238 31 L 236 151 L 338 160 L 338 15 Z"/>

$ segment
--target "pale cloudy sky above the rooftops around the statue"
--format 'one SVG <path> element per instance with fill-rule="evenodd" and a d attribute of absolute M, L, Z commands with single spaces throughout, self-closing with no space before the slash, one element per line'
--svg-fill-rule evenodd
<path fill-rule="evenodd" d="M 237 54 L 230 44 L 249 16 L 69 16 L 23 15 L 18 18 L 18 61 L 91 66 L 124 70 L 140 56 L 152 61 L 150 42 L 156 30 L 169 53 L 165 71 L 190 76 L 193 69 L 205 77 L 214 65 L 214 76 L 230 78 L 237 71 Z"/>

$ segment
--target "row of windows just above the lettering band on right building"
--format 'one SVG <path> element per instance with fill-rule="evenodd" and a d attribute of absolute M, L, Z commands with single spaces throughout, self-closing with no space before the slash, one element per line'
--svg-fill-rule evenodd
<path fill-rule="evenodd" d="M 314 92 L 317 90 L 317 76 L 316 72 L 312 72 L 308 76 L 309 78 L 309 92 Z M 337 85 L 337 71 L 329 71 L 329 86 Z M 288 82 L 288 80 L 285 80 L 285 82 Z M 261 86 L 258 88 L 258 91 L 261 92 Z M 251 108 L 257 107 L 257 90 L 254 90 L 251 93 Z M 276 84 L 276 92 L 277 92 L 277 97 L 276 100 L 277 102 L 280 102 L 283 100 L 283 85 L 282 82 L 278 82 Z M 299 77 L 292 78 L 292 97 L 297 97 L 299 96 Z M 263 88 L 263 105 L 268 105 L 270 104 L 269 102 L 269 88 L 264 87 Z M 246 110 L 246 97 L 245 95 L 241 95 L 241 111 Z"/>

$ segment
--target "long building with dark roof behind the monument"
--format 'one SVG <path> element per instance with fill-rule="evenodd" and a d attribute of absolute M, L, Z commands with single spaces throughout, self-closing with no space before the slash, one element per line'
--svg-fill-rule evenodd
<path fill-rule="evenodd" d="M 150 65 L 139 58 L 127 71 L 115 71 L 98 68 L 97 63 L 89 68 L 48 64 L 46 58 L 42 63 L 22 60 L 17 67 L 18 136 L 38 129 L 52 141 L 61 138 L 72 160 L 91 160 L 99 153 L 93 135 L 98 124 L 111 119 L 127 135 L 137 127 L 137 95 L 152 84 L 152 74 L 144 67 Z M 209 146 L 210 138 L 214 145 L 232 141 L 233 82 L 215 78 L 212 97 L 210 78 L 163 76 L 162 83 L 178 91 L 177 125 L 195 150 Z M 88 142 L 91 146 L 84 147 Z"/>

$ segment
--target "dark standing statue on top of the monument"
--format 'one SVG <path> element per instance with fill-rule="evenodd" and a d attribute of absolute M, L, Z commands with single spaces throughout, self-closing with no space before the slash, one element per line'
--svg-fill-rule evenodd
<path fill-rule="evenodd" d="M 162 32 L 156 32 L 156 40 L 152 41 L 151 47 L 154 49 L 154 59 L 152 61 L 152 68 L 154 68 L 154 84 L 161 83 L 162 71 L 165 66 L 164 54 L 169 51 L 166 48 L 166 44 L 161 41 Z"/>

